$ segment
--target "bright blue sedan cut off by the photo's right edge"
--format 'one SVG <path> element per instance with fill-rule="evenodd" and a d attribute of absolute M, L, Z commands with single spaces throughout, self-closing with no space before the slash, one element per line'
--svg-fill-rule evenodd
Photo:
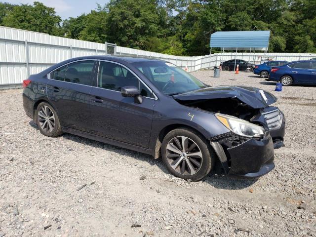
<path fill-rule="evenodd" d="M 282 85 L 316 85 L 316 62 L 311 60 L 294 61 L 271 69 L 269 80 L 279 81 Z"/>

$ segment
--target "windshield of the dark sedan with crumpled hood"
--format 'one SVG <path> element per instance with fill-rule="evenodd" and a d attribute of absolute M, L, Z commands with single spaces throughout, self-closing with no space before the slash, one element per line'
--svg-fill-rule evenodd
<path fill-rule="evenodd" d="M 207 87 L 206 84 L 171 63 L 150 61 L 137 62 L 133 65 L 166 95 L 182 94 Z"/>

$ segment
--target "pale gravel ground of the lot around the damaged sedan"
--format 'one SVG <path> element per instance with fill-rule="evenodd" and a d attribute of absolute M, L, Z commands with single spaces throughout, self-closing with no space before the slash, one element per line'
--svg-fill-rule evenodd
<path fill-rule="evenodd" d="M 272 172 L 186 182 L 161 159 L 70 134 L 45 137 L 24 113 L 22 90 L 0 91 L 0 237 L 316 237 L 316 87 L 275 92 L 252 73 L 193 74 L 276 95 L 287 124 Z"/>

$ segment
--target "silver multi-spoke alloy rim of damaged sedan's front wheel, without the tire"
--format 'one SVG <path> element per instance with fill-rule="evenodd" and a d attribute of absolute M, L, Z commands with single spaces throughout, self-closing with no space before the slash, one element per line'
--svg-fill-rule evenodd
<path fill-rule="evenodd" d="M 166 148 L 170 166 L 179 174 L 194 175 L 202 165 L 202 152 L 192 139 L 179 136 L 172 138 Z"/>

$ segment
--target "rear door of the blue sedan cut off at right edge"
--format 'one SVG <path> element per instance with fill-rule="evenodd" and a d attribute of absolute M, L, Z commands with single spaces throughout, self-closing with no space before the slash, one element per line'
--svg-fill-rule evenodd
<path fill-rule="evenodd" d="M 311 78 L 310 62 L 297 62 L 289 65 L 294 83 L 309 83 Z"/>

